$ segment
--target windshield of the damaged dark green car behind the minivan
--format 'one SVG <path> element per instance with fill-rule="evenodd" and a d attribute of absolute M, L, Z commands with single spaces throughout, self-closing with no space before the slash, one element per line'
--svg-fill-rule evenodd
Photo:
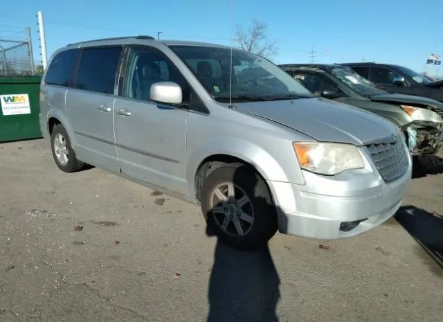
<path fill-rule="evenodd" d="M 389 93 L 388 91 L 378 87 L 373 82 L 361 77 L 361 75 L 350 69 L 348 66 L 334 66 L 331 68 L 331 73 L 361 96 L 382 95 Z"/>

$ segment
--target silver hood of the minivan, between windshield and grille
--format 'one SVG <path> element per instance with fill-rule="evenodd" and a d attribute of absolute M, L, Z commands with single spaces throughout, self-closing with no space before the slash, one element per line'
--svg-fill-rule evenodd
<path fill-rule="evenodd" d="M 235 103 L 237 109 L 273 120 L 318 141 L 363 145 L 396 133 L 387 120 L 332 100 L 300 98 Z"/>

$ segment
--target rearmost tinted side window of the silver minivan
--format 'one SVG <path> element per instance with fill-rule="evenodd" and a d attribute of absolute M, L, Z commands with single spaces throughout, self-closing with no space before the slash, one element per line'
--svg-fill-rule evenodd
<path fill-rule="evenodd" d="M 78 49 L 71 49 L 58 53 L 48 67 L 44 82 L 46 84 L 69 86 L 73 80 L 74 66 L 79 52 Z"/>

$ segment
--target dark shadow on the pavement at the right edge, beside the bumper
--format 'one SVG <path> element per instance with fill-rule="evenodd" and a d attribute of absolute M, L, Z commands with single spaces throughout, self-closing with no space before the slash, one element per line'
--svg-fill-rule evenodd
<path fill-rule="evenodd" d="M 415 206 L 402 206 L 395 219 L 443 269 L 443 216 Z"/>

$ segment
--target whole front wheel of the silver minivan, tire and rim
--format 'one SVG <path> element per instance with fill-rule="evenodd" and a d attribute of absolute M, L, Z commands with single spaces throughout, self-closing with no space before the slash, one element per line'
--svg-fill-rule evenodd
<path fill-rule="evenodd" d="M 264 247 L 277 231 L 277 216 L 266 182 L 253 169 L 228 164 L 210 172 L 201 191 L 208 228 L 231 247 Z"/>

